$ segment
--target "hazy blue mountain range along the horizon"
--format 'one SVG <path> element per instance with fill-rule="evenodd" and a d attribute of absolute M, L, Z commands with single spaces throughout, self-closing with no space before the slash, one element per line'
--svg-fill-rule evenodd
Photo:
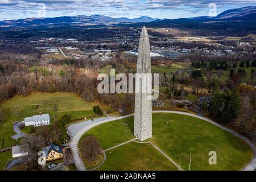
<path fill-rule="evenodd" d="M 79 25 L 86 26 L 90 24 L 113 24 L 113 23 L 147 23 L 149 25 L 177 23 L 186 24 L 191 22 L 195 23 L 208 23 L 208 22 L 253 22 L 256 23 L 256 6 L 247 6 L 238 9 L 230 9 L 223 13 L 211 16 L 198 16 L 193 18 L 179 18 L 179 19 L 154 19 L 148 16 L 141 16 L 139 18 L 129 19 L 125 17 L 112 18 L 103 15 L 78 15 L 78 16 L 61 16 L 55 18 L 27 18 L 18 20 L 3 20 L 0 22 L 0 27 L 10 26 L 39 26 L 39 25 Z"/>

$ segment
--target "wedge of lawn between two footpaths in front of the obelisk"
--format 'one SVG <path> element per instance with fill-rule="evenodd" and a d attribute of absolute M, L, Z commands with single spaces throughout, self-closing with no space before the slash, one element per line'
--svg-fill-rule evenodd
<path fill-rule="evenodd" d="M 98 170 L 175 171 L 177 167 L 151 144 L 130 142 L 106 152 L 106 161 Z"/>

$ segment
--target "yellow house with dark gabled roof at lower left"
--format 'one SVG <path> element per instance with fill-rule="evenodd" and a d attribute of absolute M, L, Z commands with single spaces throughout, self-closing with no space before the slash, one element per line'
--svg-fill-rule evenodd
<path fill-rule="evenodd" d="M 59 160 L 63 158 L 63 150 L 62 147 L 57 146 L 52 143 L 51 146 L 42 148 L 44 152 L 46 152 L 46 157 L 44 158 L 46 162 L 51 162 L 53 160 Z"/>

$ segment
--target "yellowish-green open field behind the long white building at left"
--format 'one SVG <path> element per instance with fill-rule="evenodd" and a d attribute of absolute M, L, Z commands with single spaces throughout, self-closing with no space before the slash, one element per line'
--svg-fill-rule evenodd
<path fill-rule="evenodd" d="M 27 97 L 15 96 L 11 100 L 0 104 L 0 109 L 4 113 L 3 123 L 0 125 L 0 139 L 5 139 L 4 148 L 15 144 L 11 139 L 14 135 L 13 122 L 23 121 L 24 117 L 42 113 L 49 113 L 54 119 L 60 118 L 64 114 L 71 114 L 72 119 L 80 119 L 94 115 L 93 106 L 100 105 L 97 102 L 86 102 L 81 97 L 73 93 L 31 93 Z M 53 109 L 56 106 L 56 109 Z M 109 109 L 106 105 L 101 105 L 103 110 Z M 30 129 L 25 128 L 27 133 Z"/>

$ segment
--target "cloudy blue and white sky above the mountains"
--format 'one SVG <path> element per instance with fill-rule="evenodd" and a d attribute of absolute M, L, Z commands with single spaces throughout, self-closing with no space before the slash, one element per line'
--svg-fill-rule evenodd
<path fill-rule="evenodd" d="M 81 14 L 187 18 L 208 15 L 210 3 L 216 4 L 217 14 L 236 7 L 256 6 L 255 0 L 0 0 L 0 20 Z"/>

